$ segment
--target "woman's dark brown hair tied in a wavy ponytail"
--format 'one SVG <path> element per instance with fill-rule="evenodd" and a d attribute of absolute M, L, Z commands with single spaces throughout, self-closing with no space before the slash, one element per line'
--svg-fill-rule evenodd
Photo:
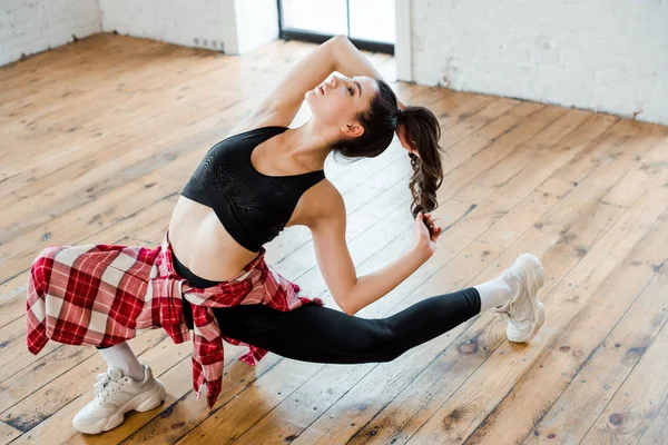
<path fill-rule="evenodd" d="M 441 125 L 439 119 L 424 107 L 409 106 L 400 111 L 396 96 L 383 80 L 377 80 L 379 93 L 366 111 L 357 116 L 364 134 L 335 142 L 332 150 L 345 158 L 373 158 L 385 151 L 392 142 L 397 125 L 406 127 L 406 137 L 414 140 L 420 157 L 409 154 L 413 177 L 410 189 L 413 196 L 411 212 L 429 212 L 439 207 L 436 190 L 443 182 L 443 165 L 439 151 Z"/>

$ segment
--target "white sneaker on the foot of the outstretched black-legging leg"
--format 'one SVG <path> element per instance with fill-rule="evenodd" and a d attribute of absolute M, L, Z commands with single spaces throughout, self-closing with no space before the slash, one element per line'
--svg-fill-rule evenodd
<path fill-rule="evenodd" d="M 508 317 L 505 335 L 510 342 L 527 343 L 536 337 L 546 323 L 546 309 L 538 300 L 538 289 L 542 287 L 544 280 L 542 264 L 537 256 L 522 254 L 512 267 L 501 273 L 501 276 L 514 279 L 519 284 L 519 290 L 503 306 L 491 310 Z"/>

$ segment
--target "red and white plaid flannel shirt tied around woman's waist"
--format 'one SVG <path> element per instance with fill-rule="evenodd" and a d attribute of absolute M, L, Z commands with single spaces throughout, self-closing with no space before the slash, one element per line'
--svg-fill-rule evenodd
<path fill-rule="evenodd" d="M 246 345 L 239 359 L 254 366 L 266 349 L 220 335 L 212 308 L 264 304 L 287 312 L 320 298 L 299 297 L 299 287 L 267 266 L 263 248 L 234 278 L 198 289 L 174 270 L 169 233 L 155 249 L 117 245 L 49 246 L 31 267 L 27 342 L 38 354 L 49 339 L 68 345 L 112 346 L 138 330 L 163 327 L 174 343 L 189 339 L 181 298 L 193 304 L 193 386 L 207 386 L 214 406 L 223 383 L 223 339 Z"/>

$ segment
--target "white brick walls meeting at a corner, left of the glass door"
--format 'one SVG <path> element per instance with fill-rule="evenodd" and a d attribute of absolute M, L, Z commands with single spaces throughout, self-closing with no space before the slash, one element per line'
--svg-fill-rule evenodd
<path fill-rule="evenodd" d="M 278 37 L 275 0 L 0 0 L 0 66 L 101 31 L 246 53 Z"/>

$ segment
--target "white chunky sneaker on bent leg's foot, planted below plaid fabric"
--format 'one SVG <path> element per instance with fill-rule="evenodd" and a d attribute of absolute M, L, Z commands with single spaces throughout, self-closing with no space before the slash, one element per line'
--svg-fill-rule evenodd
<path fill-rule="evenodd" d="M 72 419 L 75 429 L 86 434 L 99 434 L 120 425 L 125 413 L 145 412 L 160 405 L 165 399 L 165 386 L 153 376 L 150 367 L 144 366 L 144 380 L 124 376 L 118 368 L 98 375 L 94 385 L 95 398 Z"/>

